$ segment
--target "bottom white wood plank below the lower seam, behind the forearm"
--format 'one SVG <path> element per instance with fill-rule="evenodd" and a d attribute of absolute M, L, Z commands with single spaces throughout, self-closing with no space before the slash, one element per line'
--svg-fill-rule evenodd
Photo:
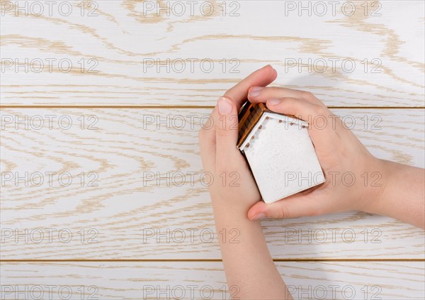
<path fill-rule="evenodd" d="M 423 262 L 276 262 L 276 265 L 295 299 L 424 299 L 425 296 Z M 71 299 L 229 299 L 229 290 L 237 296 L 243 288 L 227 287 L 222 262 L 7 262 L 1 263 L 0 274 L 3 299 L 15 299 L 18 289 L 24 291 L 21 297 L 30 296 L 30 291 L 38 296 L 37 291 L 41 290 L 44 299 L 49 296 L 60 299 L 69 291 Z M 51 293 L 47 285 L 51 286 Z"/>

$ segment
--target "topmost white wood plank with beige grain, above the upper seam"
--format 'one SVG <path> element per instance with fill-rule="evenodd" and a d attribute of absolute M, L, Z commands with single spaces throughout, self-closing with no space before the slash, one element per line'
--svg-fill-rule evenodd
<path fill-rule="evenodd" d="M 18 1 L 21 7 L 24 2 Z M 200 13 L 201 2 L 193 16 L 188 4 L 183 16 L 176 11 L 144 16 L 142 1 L 96 1 L 98 16 L 87 16 L 94 7 L 87 1 L 84 16 L 80 1 L 73 3 L 70 16 L 58 13 L 58 4 L 52 16 L 47 7 L 42 16 L 22 11 L 16 16 L 16 1 L 2 1 L 11 9 L 1 11 L 1 57 L 18 59 L 21 69 L 2 72 L 1 104 L 212 105 L 246 74 L 271 64 L 279 72 L 276 85 L 310 90 L 331 106 L 424 106 L 424 2 L 375 2 L 353 1 L 353 16 L 344 16 L 350 10 L 342 13 L 341 6 L 334 16 L 330 6 L 325 16 L 298 16 L 297 10 L 285 16 L 285 1 L 227 1 L 225 16 L 221 1 L 210 1 L 215 7 L 211 16 Z M 378 3 L 381 16 L 370 16 Z M 233 9 L 239 16 L 230 16 Z M 42 60 L 45 68 L 23 72 L 26 58 Z M 50 72 L 50 58 L 69 59 L 72 71 L 61 72 L 56 62 Z M 89 59 L 98 61 L 98 72 L 88 72 L 94 66 Z M 186 60 L 186 70 L 176 71 L 178 61 L 171 64 L 176 70 L 148 67 L 147 60 L 157 65 L 168 59 Z M 189 59 L 199 60 L 193 71 Z M 201 70 L 203 59 L 212 60 L 211 72 Z M 229 70 L 236 66 L 232 59 L 240 62 L 238 72 Z M 326 61 L 325 72 L 318 59 Z M 340 60 L 336 70 L 334 59 Z M 356 63 L 353 72 L 341 69 L 344 59 Z M 380 73 L 371 72 L 374 59 L 382 62 Z M 302 72 L 285 70 L 289 60 Z M 309 72 L 307 66 L 315 63 L 317 70 Z"/>

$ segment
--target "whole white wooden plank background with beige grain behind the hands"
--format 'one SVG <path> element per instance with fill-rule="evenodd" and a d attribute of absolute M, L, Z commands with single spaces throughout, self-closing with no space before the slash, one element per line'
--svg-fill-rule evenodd
<path fill-rule="evenodd" d="M 1 1 L 1 299 L 229 299 L 197 134 L 266 64 L 374 155 L 425 167 L 424 1 L 35 2 Z M 425 297 L 424 230 L 359 212 L 262 224 L 297 299 Z"/>

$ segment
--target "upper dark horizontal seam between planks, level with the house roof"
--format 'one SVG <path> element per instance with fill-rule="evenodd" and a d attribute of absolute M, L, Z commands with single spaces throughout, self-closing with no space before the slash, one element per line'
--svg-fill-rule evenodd
<path fill-rule="evenodd" d="M 0 109 L 213 109 L 215 106 L 193 106 L 193 105 L 0 105 Z M 327 106 L 329 109 L 425 109 L 425 106 Z"/>

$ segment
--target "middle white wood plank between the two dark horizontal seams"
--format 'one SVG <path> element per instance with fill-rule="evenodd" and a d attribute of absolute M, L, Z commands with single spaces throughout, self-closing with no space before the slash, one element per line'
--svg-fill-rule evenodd
<path fill-rule="evenodd" d="M 204 173 L 198 128 L 208 113 L 207 109 L 1 110 L 5 126 L 1 259 L 219 259 L 217 238 L 224 237 L 210 237 L 215 232 L 212 210 L 208 189 L 200 180 Z M 378 157 L 424 167 L 424 111 L 334 109 L 334 113 L 347 125 L 355 120 L 356 135 Z M 13 121 L 26 116 L 27 130 L 25 124 Z M 45 120 L 39 130 L 35 116 Z M 53 120 L 51 129 L 47 116 Z M 93 116 L 98 129 L 88 130 Z M 62 128 L 67 119 L 72 127 L 60 129 L 60 118 Z M 381 119 L 379 124 L 376 118 Z M 179 129 L 181 120 L 186 125 Z M 26 187 L 5 180 L 5 174 L 25 177 L 26 172 L 28 177 L 40 172 L 44 182 L 35 186 L 40 177 L 33 177 Z M 55 173 L 52 180 L 46 172 Z M 73 179 L 67 187 L 58 179 L 66 172 Z M 88 186 L 94 179 L 90 172 L 98 175 L 97 187 Z M 168 180 L 147 180 L 147 174 Z M 276 259 L 424 258 L 424 231 L 383 216 L 339 213 L 268 220 L 263 227 Z M 227 228 L 229 241 L 235 235 L 231 229 Z"/>

